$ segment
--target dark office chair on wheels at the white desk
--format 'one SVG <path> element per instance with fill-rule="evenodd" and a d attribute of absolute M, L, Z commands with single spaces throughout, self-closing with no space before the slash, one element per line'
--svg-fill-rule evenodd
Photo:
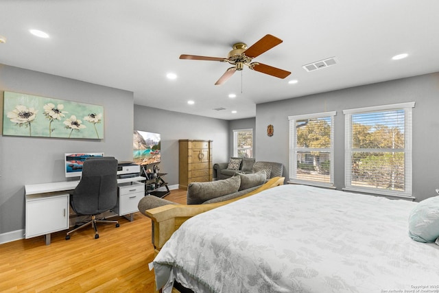
<path fill-rule="evenodd" d="M 112 157 L 90 158 L 82 165 L 82 177 L 78 186 L 70 195 L 70 205 L 78 215 L 91 215 L 91 220 L 78 224 L 67 232 L 66 240 L 70 234 L 89 224 L 95 228 L 95 239 L 99 238 L 97 233 L 97 222 L 113 223 L 119 227 L 119 222 L 110 220 L 97 220 L 96 215 L 113 209 L 117 204 L 117 160 Z"/>

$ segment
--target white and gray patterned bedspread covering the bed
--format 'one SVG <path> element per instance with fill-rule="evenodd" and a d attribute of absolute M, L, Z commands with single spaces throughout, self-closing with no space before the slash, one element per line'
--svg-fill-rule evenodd
<path fill-rule="evenodd" d="M 187 220 L 154 259 L 156 282 L 195 292 L 439 292 L 439 246 L 408 236 L 415 204 L 275 187 Z"/>

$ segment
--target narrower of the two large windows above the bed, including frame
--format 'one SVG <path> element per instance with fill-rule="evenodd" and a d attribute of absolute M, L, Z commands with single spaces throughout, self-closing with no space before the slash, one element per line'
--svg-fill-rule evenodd
<path fill-rule="evenodd" d="M 336 112 L 289 116 L 289 180 L 333 186 Z"/>

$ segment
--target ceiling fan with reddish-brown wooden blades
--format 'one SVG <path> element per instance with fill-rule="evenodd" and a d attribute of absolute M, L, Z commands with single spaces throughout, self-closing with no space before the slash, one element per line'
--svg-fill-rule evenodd
<path fill-rule="evenodd" d="M 233 50 L 228 53 L 227 58 L 183 54 L 180 55 L 180 59 L 228 62 L 233 65 L 233 67 L 228 68 L 226 72 L 221 76 L 221 78 L 219 78 L 219 80 L 215 82 L 215 85 L 224 84 L 224 82 L 226 82 L 230 78 L 230 76 L 233 75 L 233 73 L 244 69 L 244 65 L 252 70 L 272 75 L 276 78 L 286 78 L 289 74 L 291 74 L 291 72 L 285 71 L 283 69 L 278 69 L 270 65 L 265 65 L 259 62 L 252 62 L 253 58 L 256 58 L 257 56 L 263 54 L 265 51 L 272 49 L 272 47 L 275 47 L 282 42 L 283 40 L 281 40 L 280 38 L 276 38 L 271 34 L 267 34 L 249 48 L 247 48 L 247 45 L 245 43 L 236 43 L 235 45 L 233 45 Z"/>

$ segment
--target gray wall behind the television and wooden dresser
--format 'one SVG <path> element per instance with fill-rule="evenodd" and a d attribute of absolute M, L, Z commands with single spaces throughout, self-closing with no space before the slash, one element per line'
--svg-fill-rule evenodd
<path fill-rule="evenodd" d="M 228 161 L 229 122 L 134 105 L 134 129 L 161 134 L 160 171 L 169 185 L 178 184 L 178 139 L 213 141 L 213 163 Z"/>

